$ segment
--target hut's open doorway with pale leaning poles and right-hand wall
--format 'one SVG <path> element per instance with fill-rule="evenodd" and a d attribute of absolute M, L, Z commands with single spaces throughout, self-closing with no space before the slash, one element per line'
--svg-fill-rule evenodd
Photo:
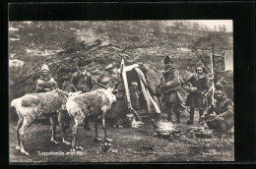
<path fill-rule="evenodd" d="M 147 64 L 141 63 L 125 66 L 122 59 L 120 65 L 120 78 L 123 95 L 123 105 L 125 113 L 134 113 L 138 119 L 140 117 L 151 117 L 155 113 L 160 113 L 160 98 L 157 96 L 157 87 L 160 85 L 160 77 Z M 132 105 L 131 85 L 137 83 L 139 94 L 139 106 Z"/>

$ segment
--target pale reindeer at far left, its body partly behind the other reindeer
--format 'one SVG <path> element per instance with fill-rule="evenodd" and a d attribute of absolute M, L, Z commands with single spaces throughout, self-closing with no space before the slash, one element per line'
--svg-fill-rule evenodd
<path fill-rule="evenodd" d="M 67 113 L 65 114 L 65 112 L 67 112 L 65 111 L 66 102 L 69 97 L 77 94 L 81 94 L 81 91 L 76 93 L 67 93 L 57 88 L 49 92 L 26 94 L 20 98 L 14 99 L 11 102 L 11 106 L 16 108 L 19 116 L 19 122 L 16 128 L 16 149 L 21 149 L 22 153 L 30 155 L 30 153 L 25 150 L 23 138 L 26 130 L 31 126 L 32 122 L 39 117 L 50 118 L 52 126 L 51 141 L 58 143 L 55 141 L 56 124 L 53 123 L 53 118 L 58 116 L 58 121 L 61 127 L 62 141 L 70 144 L 70 142 L 65 141 L 64 119 L 67 115 Z"/>

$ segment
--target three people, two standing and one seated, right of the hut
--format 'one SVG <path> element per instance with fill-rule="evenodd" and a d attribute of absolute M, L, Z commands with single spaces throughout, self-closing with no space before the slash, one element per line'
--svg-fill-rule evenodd
<path fill-rule="evenodd" d="M 169 56 L 164 58 L 165 68 L 161 78 L 161 92 L 163 93 L 163 113 L 167 114 L 167 120 L 172 120 L 172 114 L 176 115 L 174 123 L 180 123 L 179 105 L 183 102 L 179 94 L 181 87 L 188 93 L 186 106 L 190 107 L 190 117 L 187 125 L 194 124 L 194 112 L 197 108 L 201 122 L 206 122 L 208 127 L 224 135 L 233 128 L 233 102 L 224 93 L 222 84 L 215 84 L 214 100 L 208 97 L 212 90 L 213 74 L 207 74 L 202 62 L 196 64 L 195 74 L 186 82 L 179 76 L 173 61 Z"/>

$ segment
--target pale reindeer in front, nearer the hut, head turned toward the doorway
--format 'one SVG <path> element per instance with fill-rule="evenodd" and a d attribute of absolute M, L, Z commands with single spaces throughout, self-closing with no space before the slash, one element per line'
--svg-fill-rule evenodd
<path fill-rule="evenodd" d="M 106 133 L 105 115 L 107 111 L 111 108 L 112 103 L 116 101 L 116 94 L 118 92 L 116 87 L 119 83 L 120 81 L 115 84 L 113 88 L 99 84 L 104 88 L 99 88 L 94 91 L 86 92 L 68 99 L 66 103 L 67 111 L 71 119 L 73 119 L 75 122 L 72 130 L 73 141 L 71 151 L 75 151 L 76 149 L 83 150 L 83 147 L 79 146 L 78 126 L 83 123 L 86 116 L 90 116 L 95 120 L 95 141 L 100 141 L 97 135 L 97 120 L 99 118 L 101 118 L 103 125 L 104 141 L 111 141 Z"/>

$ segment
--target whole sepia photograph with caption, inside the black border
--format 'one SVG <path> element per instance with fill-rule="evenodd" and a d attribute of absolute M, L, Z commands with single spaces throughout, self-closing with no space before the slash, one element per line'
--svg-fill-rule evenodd
<path fill-rule="evenodd" d="M 233 21 L 10 21 L 10 163 L 234 161 Z"/>

